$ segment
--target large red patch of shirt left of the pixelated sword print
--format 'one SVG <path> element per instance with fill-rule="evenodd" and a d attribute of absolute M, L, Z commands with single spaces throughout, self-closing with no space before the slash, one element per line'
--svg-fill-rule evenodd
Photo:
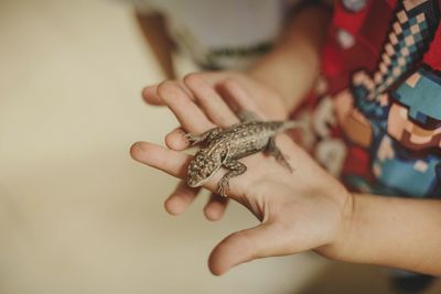
<path fill-rule="evenodd" d="M 342 1 L 335 1 L 332 26 L 321 55 L 321 69 L 329 81 L 330 94 L 347 88 L 354 72 L 361 68 L 369 72 L 375 69 L 387 39 L 388 30 L 385 28 L 390 25 L 395 4 L 396 0 L 370 0 L 359 12 L 351 12 Z M 343 48 L 338 44 L 340 30 L 353 35 L 353 46 Z"/>

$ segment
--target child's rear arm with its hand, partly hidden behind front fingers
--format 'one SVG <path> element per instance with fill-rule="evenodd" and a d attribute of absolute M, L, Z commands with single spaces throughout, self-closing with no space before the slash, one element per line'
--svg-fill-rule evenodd
<path fill-rule="evenodd" d="M 330 19 L 326 6 L 306 6 L 290 19 L 275 48 L 247 72 L 205 72 L 191 74 L 180 84 L 186 88 L 186 79 L 196 76 L 213 88 L 234 78 L 245 87 L 256 104 L 271 119 L 286 119 L 298 106 L 319 73 L 320 44 Z M 158 95 L 158 85 L 143 90 L 148 104 L 164 105 Z"/>

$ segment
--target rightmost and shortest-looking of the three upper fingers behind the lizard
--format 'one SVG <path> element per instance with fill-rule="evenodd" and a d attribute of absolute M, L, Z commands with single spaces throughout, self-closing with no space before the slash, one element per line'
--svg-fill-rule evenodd
<path fill-rule="evenodd" d="M 257 107 L 256 101 L 246 91 L 246 89 L 235 79 L 228 78 L 222 84 L 223 92 L 226 99 L 236 105 L 238 109 L 249 110 L 261 118 L 265 118 L 262 111 Z"/>

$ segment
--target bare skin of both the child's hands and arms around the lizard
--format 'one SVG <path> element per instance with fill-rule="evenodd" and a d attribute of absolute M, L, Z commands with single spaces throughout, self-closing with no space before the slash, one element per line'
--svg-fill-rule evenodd
<path fill-rule="evenodd" d="M 310 20 L 308 13 L 326 15 L 324 10 L 311 9 L 299 17 L 309 15 L 305 20 Z M 291 30 L 305 30 L 301 26 L 294 24 Z M 193 74 L 146 88 L 146 101 L 169 107 L 181 126 L 166 135 L 168 148 L 138 142 L 131 149 L 132 157 L 184 179 L 191 156 L 181 152 L 187 146 L 183 131 L 202 133 L 216 126 L 228 127 L 237 122 L 232 109 L 251 110 L 266 119 L 286 118 L 316 74 L 308 64 L 316 62 L 314 46 L 321 34 L 319 30 L 310 33 L 311 39 L 308 34 L 300 39 L 306 42 L 302 50 L 295 50 L 299 39 L 286 34 L 288 40 L 280 42 L 280 48 L 248 73 Z M 300 65 L 290 64 L 293 62 Z M 294 83 L 280 83 L 279 76 L 303 81 L 292 89 Z M 305 250 L 340 261 L 441 274 L 441 265 L 433 262 L 441 258 L 441 202 L 349 193 L 288 137 L 280 135 L 277 143 L 295 172 L 287 173 L 263 154 L 241 160 L 248 171 L 232 179 L 229 198 L 247 207 L 261 224 L 234 232 L 213 250 L 208 266 L 214 274 L 257 258 Z M 215 192 L 223 174 L 216 174 L 205 187 Z M 197 193 L 181 182 L 165 202 L 166 210 L 173 215 L 185 211 Z M 207 218 L 219 219 L 226 203 L 212 196 L 205 207 Z"/>

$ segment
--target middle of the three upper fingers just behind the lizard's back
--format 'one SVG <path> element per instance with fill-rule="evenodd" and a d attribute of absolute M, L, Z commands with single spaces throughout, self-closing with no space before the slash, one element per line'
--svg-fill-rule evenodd
<path fill-rule="evenodd" d="M 215 124 L 225 128 L 238 122 L 232 109 L 215 89 L 204 81 L 201 74 L 187 75 L 184 83 L 193 92 L 196 102 Z"/>

